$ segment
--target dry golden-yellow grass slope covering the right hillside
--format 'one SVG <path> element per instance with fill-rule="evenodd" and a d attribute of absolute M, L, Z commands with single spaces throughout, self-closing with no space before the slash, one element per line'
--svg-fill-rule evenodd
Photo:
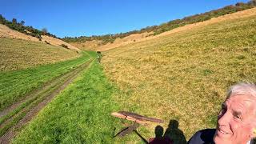
<path fill-rule="evenodd" d="M 256 16 L 200 26 L 103 53 L 102 65 L 124 94 L 121 110 L 179 122 L 188 140 L 214 128 L 227 88 L 256 82 Z M 142 135 L 154 136 L 154 127 Z"/>

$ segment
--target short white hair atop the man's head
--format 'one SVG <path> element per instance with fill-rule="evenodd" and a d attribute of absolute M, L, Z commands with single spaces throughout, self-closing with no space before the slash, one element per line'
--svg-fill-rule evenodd
<path fill-rule="evenodd" d="M 227 98 L 230 98 L 232 95 L 247 95 L 256 100 L 256 85 L 252 82 L 240 82 L 230 86 L 230 89 L 227 91 Z"/>

